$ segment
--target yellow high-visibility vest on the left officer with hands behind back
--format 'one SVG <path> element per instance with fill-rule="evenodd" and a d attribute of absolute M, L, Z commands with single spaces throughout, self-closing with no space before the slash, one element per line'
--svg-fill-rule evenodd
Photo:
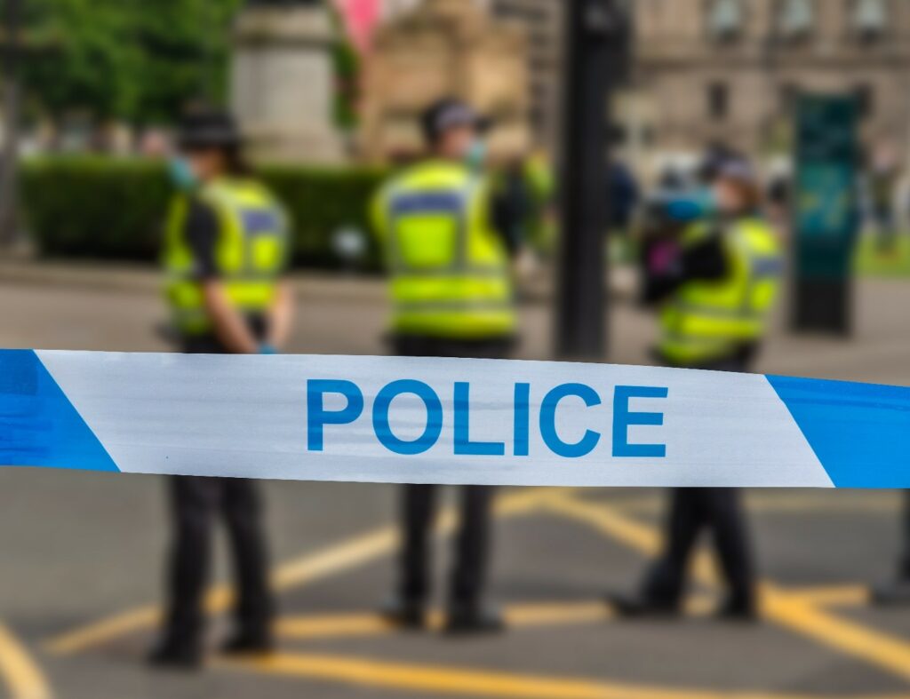
<path fill-rule="evenodd" d="M 244 314 L 268 310 L 288 257 L 288 223 L 282 208 L 265 187 L 246 179 L 219 178 L 197 197 L 217 216 L 215 262 L 228 299 Z M 189 204 L 186 195 L 177 196 L 168 215 L 166 295 L 177 330 L 203 335 L 212 325 L 197 281 L 197 260 L 185 237 Z"/>

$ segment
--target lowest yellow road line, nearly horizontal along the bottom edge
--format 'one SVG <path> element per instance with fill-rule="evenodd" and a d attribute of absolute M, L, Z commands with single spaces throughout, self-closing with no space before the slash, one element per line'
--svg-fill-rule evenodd
<path fill-rule="evenodd" d="M 570 677 L 509 674 L 470 668 L 386 663 L 322 654 L 275 654 L 232 664 L 259 672 L 385 687 L 396 692 L 521 697 L 521 699 L 809 699 L 767 692 L 703 692 L 604 683 Z M 818 699 L 818 697 L 812 697 Z M 884 697 L 882 698 L 884 699 Z M 896 697 L 894 698 L 896 699 Z"/>

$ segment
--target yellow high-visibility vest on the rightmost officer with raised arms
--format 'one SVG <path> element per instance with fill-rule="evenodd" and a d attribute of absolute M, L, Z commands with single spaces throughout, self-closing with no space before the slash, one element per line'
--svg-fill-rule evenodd
<path fill-rule="evenodd" d="M 693 225 L 683 244 L 706 235 L 710 224 Z M 697 366 L 730 357 L 766 331 L 783 271 L 777 238 L 761 219 L 743 218 L 724 231 L 723 245 L 730 274 L 688 282 L 662 307 L 658 349 L 671 364 Z"/>

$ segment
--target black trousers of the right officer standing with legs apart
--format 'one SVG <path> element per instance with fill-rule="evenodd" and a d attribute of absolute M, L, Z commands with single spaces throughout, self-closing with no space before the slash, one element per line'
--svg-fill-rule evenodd
<path fill-rule="evenodd" d="M 714 371 L 747 370 L 748 361 L 736 358 L 700 368 Z M 731 488 L 677 488 L 671 492 L 665 524 L 664 550 L 644 582 L 644 595 L 658 604 L 678 604 L 698 538 L 711 534 L 723 577 L 733 604 L 753 604 L 754 571 L 749 534 L 740 494 Z"/>

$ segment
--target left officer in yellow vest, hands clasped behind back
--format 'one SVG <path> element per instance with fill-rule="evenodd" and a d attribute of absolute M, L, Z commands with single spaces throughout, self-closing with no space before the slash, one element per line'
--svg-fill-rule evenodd
<path fill-rule="evenodd" d="M 288 335 L 291 296 L 281 281 L 288 221 L 249 173 L 229 116 L 200 111 L 180 130 L 171 163 L 179 193 L 167 220 L 163 261 L 167 301 L 187 354 L 274 354 Z M 153 664 L 192 667 L 202 653 L 203 596 L 211 526 L 223 519 L 237 580 L 226 653 L 272 646 L 273 601 L 261 505 L 252 481 L 175 476 L 170 483 L 173 543 L 164 634 Z"/>

